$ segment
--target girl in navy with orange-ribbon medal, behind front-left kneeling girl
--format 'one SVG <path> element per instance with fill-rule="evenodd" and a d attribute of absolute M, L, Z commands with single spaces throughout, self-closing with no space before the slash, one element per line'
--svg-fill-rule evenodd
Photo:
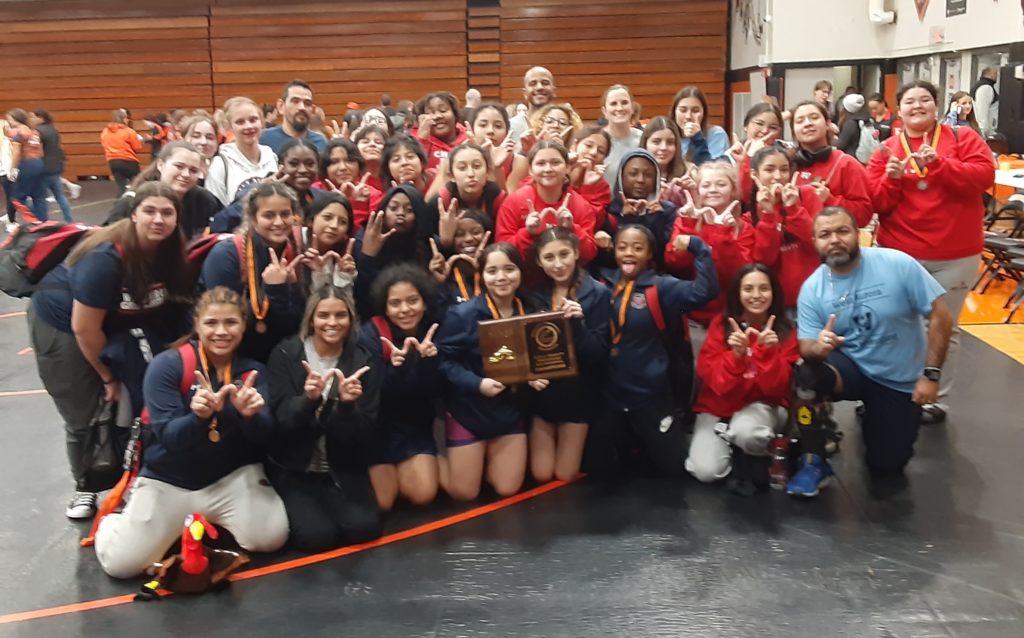
<path fill-rule="evenodd" d="M 298 214 L 298 198 L 285 184 L 255 186 L 242 226 L 210 249 L 203 263 L 200 290 L 224 286 L 249 305 L 241 352 L 258 361 L 267 360 L 271 348 L 294 335 L 302 320 L 305 291 L 297 274 L 302 255 L 293 227 Z"/>

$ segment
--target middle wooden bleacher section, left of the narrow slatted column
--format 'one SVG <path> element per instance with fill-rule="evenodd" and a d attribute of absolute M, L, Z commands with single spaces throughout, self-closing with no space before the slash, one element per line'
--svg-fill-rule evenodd
<path fill-rule="evenodd" d="M 349 101 L 373 104 L 383 93 L 395 103 L 440 88 L 462 97 L 465 0 L 368 6 L 297 3 L 282 15 L 268 7 L 215 4 L 210 14 L 214 99 L 220 104 L 243 94 L 272 102 L 294 78 L 313 86 L 329 119 L 340 118 Z"/>

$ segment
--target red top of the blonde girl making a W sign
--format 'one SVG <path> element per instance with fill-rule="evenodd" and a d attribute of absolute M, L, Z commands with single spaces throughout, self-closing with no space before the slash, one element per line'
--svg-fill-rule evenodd
<path fill-rule="evenodd" d="M 718 272 L 719 294 L 708 305 L 692 310 L 688 316 L 702 326 L 707 326 L 725 307 L 726 291 L 732 286 L 736 272 L 745 263 L 750 263 L 754 249 L 754 225 L 751 216 L 743 213 L 743 227 L 739 237 L 735 236 L 732 226 L 725 224 L 706 223 L 697 232 L 696 220 L 692 217 L 677 217 L 672 226 L 669 245 L 665 247 L 665 269 L 682 280 L 693 278 L 693 256 L 689 251 L 677 252 L 672 249 L 676 238 L 680 235 L 696 235 L 705 244 L 711 247 L 711 256 L 715 260 L 715 270 Z"/>

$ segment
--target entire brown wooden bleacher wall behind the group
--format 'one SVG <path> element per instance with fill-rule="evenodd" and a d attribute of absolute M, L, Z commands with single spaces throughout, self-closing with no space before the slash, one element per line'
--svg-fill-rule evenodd
<path fill-rule="evenodd" d="M 644 117 L 697 84 L 721 122 L 727 29 L 727 0 L 0 0 L 0 108 L 49 110 L 69 175 L 108 173 L 98 136 L 114 109 L 271 102 L 293 78 L 331 119 L 381 93 L 461 100 L 474 86 L 518 101 L 523 73 L 543 65 L 585 119 L 624 82 Z"/>

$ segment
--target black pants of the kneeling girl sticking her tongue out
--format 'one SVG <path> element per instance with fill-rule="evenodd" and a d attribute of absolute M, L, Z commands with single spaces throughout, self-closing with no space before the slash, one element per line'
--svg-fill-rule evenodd
<path fill-rule="evenodd" d="M 585 471 L 606 470 L 639 445 L 658 472 L 682 474 L 688 448 L 686 427 L 674 414 L 675 407 L 667 396 L 630 410 L 605 406 L 588 437 Z"/>

